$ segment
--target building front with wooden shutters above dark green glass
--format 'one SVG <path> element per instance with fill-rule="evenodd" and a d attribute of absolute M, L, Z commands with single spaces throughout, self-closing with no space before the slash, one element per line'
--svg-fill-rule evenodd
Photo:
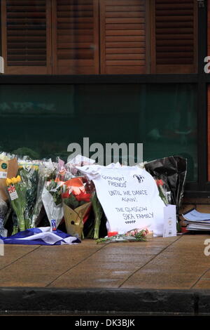
<path fill-rule="evenodd" d="M 208 194 L 209 1 L 35 2 L 1 1 L 1 149 L 66 157 L 85 136 L 144 143 L 145 161 L 186 157 L 186 191 Z"/>

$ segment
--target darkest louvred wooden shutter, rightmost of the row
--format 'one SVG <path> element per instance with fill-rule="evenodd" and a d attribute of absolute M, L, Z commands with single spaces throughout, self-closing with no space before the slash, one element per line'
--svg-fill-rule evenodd
<path fill-rule="evenodd" d="M 196 72 L 197 0 L 152 0 L 152 73 Z"/>

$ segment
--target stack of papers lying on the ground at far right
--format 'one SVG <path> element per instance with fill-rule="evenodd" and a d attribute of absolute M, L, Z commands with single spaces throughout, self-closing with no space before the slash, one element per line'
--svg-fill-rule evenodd
<path fill-rule="evenodd" d="M 183 215 L 188 230 L 210 230 L 210 213 L 201 213 L 192 209 Z"/>

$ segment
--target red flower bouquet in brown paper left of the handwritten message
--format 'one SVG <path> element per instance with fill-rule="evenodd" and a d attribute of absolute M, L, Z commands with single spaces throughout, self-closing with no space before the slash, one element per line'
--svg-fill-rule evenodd
<path fill-rule="evenodd" d="M 84 177 L 71 178 L 62 186 L 62 204 L 68 234 L 83 239 L 83 225 L 90 214 L 91 197 L 91 185 Z"/>

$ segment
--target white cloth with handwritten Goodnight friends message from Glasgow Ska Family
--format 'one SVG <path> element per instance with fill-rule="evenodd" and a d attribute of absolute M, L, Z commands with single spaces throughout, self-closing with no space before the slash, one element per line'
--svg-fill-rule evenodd
<path fill-rule="evenodd" d="M 150 173 L 137 166 L 118 164 L 77 168 L 93 180 L 108 230 L 124 233 L 149 227 L 154 236 L 162 236 L 165 204 Z"/>

